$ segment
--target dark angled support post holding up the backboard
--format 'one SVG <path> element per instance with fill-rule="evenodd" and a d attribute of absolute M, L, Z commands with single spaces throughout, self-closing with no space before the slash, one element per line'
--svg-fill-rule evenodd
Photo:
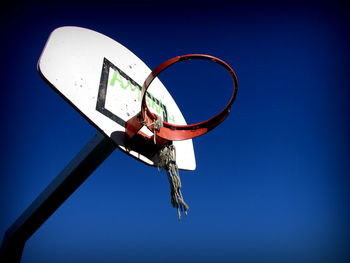
<path fill-rule="evenodd" d="M 26 241 L 115 148 L 111 139 L 96 134 L 6 231 L 0 262 L 20 262 Z"/>

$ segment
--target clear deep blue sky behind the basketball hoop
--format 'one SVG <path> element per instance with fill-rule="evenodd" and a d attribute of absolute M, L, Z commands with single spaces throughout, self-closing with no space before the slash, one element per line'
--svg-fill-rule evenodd
<path fill-rule="evenodd" d="M 115 150 L 27 242 L 22 262 L 349 262 L 341 1 L 28 1 L 1 12 L 0 234 L 97 132 L 36 70 L 55 28 L 103 33 L 150 68 L 211 54 L 240 83 L 228 119 L 194 140 L 182 222 L 165 174 Z M 215 66 L 160 76 L 190 123 L 228 100 Z"/>

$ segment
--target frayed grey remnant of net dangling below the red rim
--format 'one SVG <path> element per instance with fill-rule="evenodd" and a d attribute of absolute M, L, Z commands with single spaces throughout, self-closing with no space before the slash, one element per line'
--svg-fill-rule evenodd
<path fill-rule="evenodd" d="M 181 193 L 181 179 L 179 170 L 176 165 L 176 150 L 174 145 L 164 146 L 158 154 L 158 168 L 167 172 L 168 181 L 170 185 L 171 204 L 177 209 L 179 220 L 181 220 L 181 213 L 187 215 L 189 206 L 183 199 Z"/>

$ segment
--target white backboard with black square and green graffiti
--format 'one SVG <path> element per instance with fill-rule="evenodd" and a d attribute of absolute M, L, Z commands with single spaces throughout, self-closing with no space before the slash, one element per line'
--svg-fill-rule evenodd
<path fill-rule="evenodd" d="M 151 72 L 135 54 L 113 39 L 80 27 L 54 30 L 41 54 L 38 70 L 52 88 L 119 148 L 156 165 L 154 152 L 139 144 L 126 150 L 125 123 L 141 109 L 141 86 Z M 180 109 L 155 79 L 147 105 L 169 123 L 186 124 Z M 147 128 L 142 132 L 149 134 Z M 192 140 L 174 141 L 179 169 L 196 168 Z M 129 147 L 128 147 L 129 148 Z"/>

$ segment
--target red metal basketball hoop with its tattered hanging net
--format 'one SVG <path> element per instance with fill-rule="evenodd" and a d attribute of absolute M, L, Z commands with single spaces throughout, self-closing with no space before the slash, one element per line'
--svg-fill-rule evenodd
<path fill-rule="evenodd" d="M 191 59 L 205 59 L 218 63 L 224 67 L 233 80 L 233 91 L 227 105 L 214 117 L 189 125 L 178 125 L 163 121 L 160 116 L 152 113 L 146 103 L 147 89 L 151 85 L 152 81 L 166 68 L 180 61 L 188 61 Z M 146 78 L 141 89 L 141 110 L 134 117 L 126 122 L 126 140 L 131 141 L 132 138 L 139 134 L 146 141 L 153 140 L 158 149 L 158 167 L 167 171 L 168 180 L 171 187 L 171 203 L 178 210 L 178 217 L 181 219 L 181 212 L 185 212 L 189 209 L 185 203 L 181 193 L 181 181 L 176 165 L 176 149 L 172 144 L 173 141 L 188 140 L 207 133 L 208 131 L 217 127 L 223 122 L 230 113 L 230 108 L 236 98 L 238 91 L 238 80 L 235 71 L 223 60 L 203 54 L 189 54 L 183 56 L 177 56 L 169 59 L 158 67 L 156 67 Z M 153 136 L 148 136 L 143 133 L 141 128 L 146 126 Z"/>

